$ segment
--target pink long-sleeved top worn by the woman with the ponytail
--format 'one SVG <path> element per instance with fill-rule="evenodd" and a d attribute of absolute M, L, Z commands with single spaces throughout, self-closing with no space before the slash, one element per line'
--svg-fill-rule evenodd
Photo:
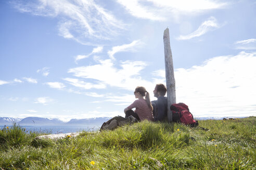
<path fill-rule="evenodd" d="M 147 101 L 145 99 L 138 99 L 134 101 L 130 106 L 127 107 L 129 110 L 136 108 L 135 112 L 141 121 L 147 119 L 153 121 L 154 117 L 152 110 L 148 107 Z"/>

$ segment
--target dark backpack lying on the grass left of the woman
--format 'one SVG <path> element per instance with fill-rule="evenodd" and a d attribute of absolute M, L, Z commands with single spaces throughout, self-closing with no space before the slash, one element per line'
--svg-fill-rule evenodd
<path fill-rule="evenodd" d="M 133 124 L 135 122 L 138 122 L 138 120 L 133 116 L 129 116 L 127 118 L 124 118 L 122 116 L 116 116 L 108 120 L 107 122 L 104 122 L 103 125 L 101 125 L 100 127 L 100 131 L 113 130 L 116 129 L 118 126 L 123 126 L 125 124 Z"/>

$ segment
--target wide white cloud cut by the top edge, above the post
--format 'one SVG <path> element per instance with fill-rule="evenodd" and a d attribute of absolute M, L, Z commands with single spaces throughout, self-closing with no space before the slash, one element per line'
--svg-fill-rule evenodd
<path fill-rule="evenodd" d="M 117 2 L 123 5 L 132 16 L 155 21 L 168 20 L 170 17 L 178 18 L 180 15 L 195 15 L 227 5 L 227 3 L 209 0 L 117 0 Z"/>

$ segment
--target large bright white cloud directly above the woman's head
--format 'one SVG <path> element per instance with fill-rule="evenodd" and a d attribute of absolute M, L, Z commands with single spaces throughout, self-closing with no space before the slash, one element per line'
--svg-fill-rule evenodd
<path fill-rule="evenodd" d="M 95 79 L 111 87 L 119 87 L 133 91 L 137 86 L 144 86 L 146 89 L 152 81 L 143 80 L 140 72 L 146 67 L 143 61 L 120 62 L 117 68 L 113 61 L 99 60 L 99 64 L 75 67 L 68 70 L 76 77 Z M 77 81 L 77 80 L 75 80 Z"/>

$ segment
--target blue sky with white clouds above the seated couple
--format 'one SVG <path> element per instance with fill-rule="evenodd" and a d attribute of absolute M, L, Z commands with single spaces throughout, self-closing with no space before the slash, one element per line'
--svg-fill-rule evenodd
<path fill-rule="evenodd" d="M 0 1 L 0 117 L 124 116 L 165 84 L 194 117 L 256 116 L 256 0 Z"/>

